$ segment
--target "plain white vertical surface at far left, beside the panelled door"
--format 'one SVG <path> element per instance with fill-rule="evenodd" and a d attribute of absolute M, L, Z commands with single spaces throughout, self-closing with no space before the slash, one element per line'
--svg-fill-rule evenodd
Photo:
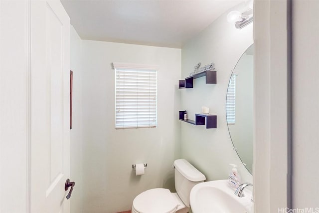
<path fill-rule="evenodd" d="M 28 212 L 29 2 L 0 0 L 0 212 Z"/>

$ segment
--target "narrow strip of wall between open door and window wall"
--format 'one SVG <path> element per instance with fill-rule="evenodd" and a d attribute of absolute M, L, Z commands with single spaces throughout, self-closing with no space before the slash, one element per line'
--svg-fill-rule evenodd
<path fill-rule="evenodd" d="M 73 26 L 70 33 L 70 66 L 73 71 L 72 129 L 70 130 L 70 180 L 75 182 L 72 194 L 71 213 L 82 213 L 83 168 L 82 168 L 82 40 Z"/>

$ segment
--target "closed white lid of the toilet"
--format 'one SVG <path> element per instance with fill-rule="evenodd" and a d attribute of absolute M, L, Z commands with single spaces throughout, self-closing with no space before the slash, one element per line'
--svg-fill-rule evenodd
<path fill-rule="evenodd" d="M 139 213 L 171 213 L 178 203 L 168 189 L 151 189 L 138 195 L 133 207 Z"/>

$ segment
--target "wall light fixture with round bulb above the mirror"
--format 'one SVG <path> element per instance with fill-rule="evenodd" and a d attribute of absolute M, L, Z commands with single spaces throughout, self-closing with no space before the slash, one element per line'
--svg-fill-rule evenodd
<path fill-rule="evenodd" d="M 249 8 L 247 11 L 240 13 L 240 11 L 234 10 L 228 13 L 227 21 L 235 23 L 237 29 L 241 29 L 251 22 L 253 22 L 253 9 Z"/>

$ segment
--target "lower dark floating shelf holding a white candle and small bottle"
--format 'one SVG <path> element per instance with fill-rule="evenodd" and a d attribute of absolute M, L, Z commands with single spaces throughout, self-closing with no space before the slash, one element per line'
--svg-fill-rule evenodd
<path fill-rule="evenodd" d="M 179 120 L 193 125 L 206 125 L 206 129 L 217 128 L 217 115 L 195 114 L 195 121 L 184 120 L 185 111 L 179 111 Z"/>

